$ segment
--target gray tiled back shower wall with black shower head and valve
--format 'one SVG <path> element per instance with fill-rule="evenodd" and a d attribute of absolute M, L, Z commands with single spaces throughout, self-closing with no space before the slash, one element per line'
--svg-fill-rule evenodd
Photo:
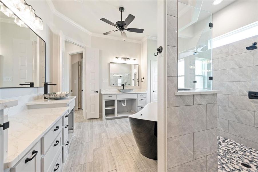
<path fill-rule="evenodd" d="M 258 35 L 213 49 L 213 89 L 218 94 L 218 135 L 258 150 Z"/>

